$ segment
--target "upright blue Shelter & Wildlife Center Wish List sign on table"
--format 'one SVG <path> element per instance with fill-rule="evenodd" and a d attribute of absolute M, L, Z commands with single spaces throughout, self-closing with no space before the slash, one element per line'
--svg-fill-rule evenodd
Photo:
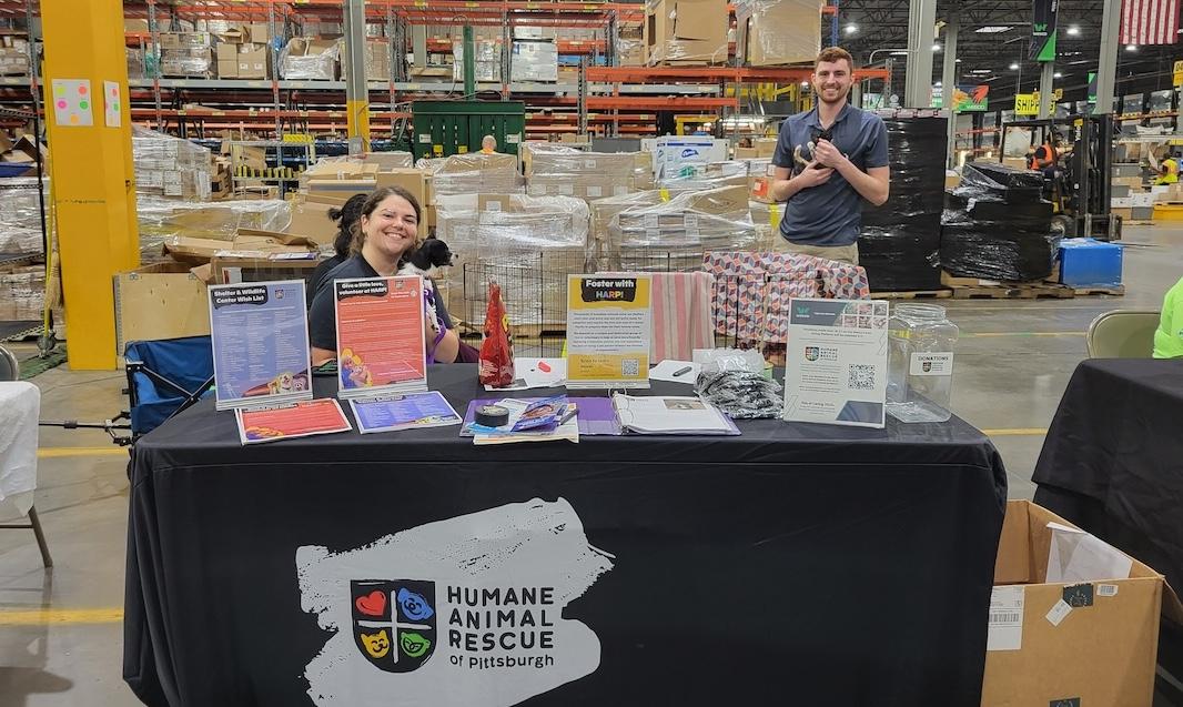
<path fill-rule="evenodd" d="M 216 409 L 312 397 L 303 280 L 209 286 Z"/>

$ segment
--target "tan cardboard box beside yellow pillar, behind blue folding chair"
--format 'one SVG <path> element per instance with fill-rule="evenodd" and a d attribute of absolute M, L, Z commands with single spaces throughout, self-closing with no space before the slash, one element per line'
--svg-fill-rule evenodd
<path fill-rule="evenodd" d="M 225 245 L 225 244 L 224 244 Z M 209 333 L 206 285 L 188 265 L 157 262 L 115 275 L 115 337 L 127 342 Z"/>

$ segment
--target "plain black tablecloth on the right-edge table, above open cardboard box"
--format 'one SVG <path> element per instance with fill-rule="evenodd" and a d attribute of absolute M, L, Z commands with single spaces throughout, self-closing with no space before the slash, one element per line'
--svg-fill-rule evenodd
<path fill-rule="evenodd" d="M 1032 480 L 1035 502 L 1183 589 L 1183 361 L 1080 363 Z"/>

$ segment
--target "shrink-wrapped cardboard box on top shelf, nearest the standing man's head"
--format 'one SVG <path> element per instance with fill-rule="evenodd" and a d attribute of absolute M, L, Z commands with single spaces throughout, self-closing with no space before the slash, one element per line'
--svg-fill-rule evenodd
<path fill-rule="evenodd" d="M 737 6 L 736 52 L 749 66 L 814 61 L 821 51 L 821 7 L 817 0 L 755 0 Z"/>

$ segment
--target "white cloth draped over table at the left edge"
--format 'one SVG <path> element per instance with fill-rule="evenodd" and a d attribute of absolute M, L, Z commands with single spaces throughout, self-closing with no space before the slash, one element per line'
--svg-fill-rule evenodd
<path fill-rule="evenodd" d="M 37 420 L 41 391 L 25 381 L 0 382 L 0 502 L 21 515 L 37 488 Z"/>

